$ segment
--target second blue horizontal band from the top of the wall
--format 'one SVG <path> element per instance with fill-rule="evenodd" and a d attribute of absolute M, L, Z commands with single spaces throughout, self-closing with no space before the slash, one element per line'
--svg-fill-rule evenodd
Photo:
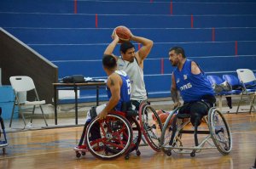
<path fill-rule="evenodd" d="M 32 28 L 96 28 L 95 14 L 1 14 L 1 27 Z M 127 21 L 128 20 L 128 21 Z M 143 24 L 138 24 L 143 23 Z M 190 15 L 102 15 L 97 16 L 98 28 L 191 28 Z M 253 15 L 195 15 L 194 28 L 256 27 Z"/>

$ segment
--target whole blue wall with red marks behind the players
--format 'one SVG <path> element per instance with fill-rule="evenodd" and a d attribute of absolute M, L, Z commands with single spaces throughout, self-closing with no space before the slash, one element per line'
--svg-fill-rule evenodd
<path fill-rule="evenodd" d="M 149 97 L 170 96 L 169 48 L 181 46 L 207 74 L 256 71 L 253 0 L 3 0 L 0 26 L 59 67 L 59 77 L 106 77 L 102 54 L 117 25 L 154 41 L 144 62 Z M 134 43 L 136 48 L 138 45 Z M 114 54 L 119 55 L 119 46 Z M 84 100 L 95 93 L 85 91 Z M 106 99 L 104 92 L 101 98 Z"/>

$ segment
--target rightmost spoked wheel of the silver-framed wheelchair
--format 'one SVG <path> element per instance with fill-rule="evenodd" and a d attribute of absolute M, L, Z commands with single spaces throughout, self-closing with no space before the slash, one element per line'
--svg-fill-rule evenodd
<path fill-rule="evenodd" d="M 232 149 L 232 137 L 230 127 L 224 119 L 224 115 L 215 108 L 212 108 L 208 113 L 208 121 L 213 143 L 221 154 L 229 155 Z"/>

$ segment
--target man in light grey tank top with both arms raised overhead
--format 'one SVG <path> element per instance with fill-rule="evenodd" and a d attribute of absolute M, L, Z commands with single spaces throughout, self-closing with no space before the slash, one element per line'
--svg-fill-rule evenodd
<path fill-rule="evenodd" d="M 128 28 L 126 28 L 128 29 Z M 131 33 L 131 31 L 130 31 Z M 144 74 L 143 74 L 143 61 L 147 58 L 151 48 L 153 47 L 153 41 L 144 38 L 130 35 L 130 39 L 121 39 L 113 31 L 113 41 L 109 43 L 104 54 L 111 54 L 117 59 L 117 65 L 119 70 L 125 70 L 131 80 L 131 103 L 139 109 L 139 104 L 143 100 L 147 100 L 147 91 L 145 88 Z M 138 42 L 143 44 L 143 47 L 138 51 L 135 51 L 134 45 L 130 42 Z M 122 42 L 120 45 L 121 56 L 115 56 L 113 50 L 116 45 Z"/>

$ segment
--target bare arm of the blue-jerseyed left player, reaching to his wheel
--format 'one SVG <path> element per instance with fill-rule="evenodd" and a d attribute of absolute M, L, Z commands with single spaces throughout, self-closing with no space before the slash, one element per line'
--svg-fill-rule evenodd
<path fill-rule="evenodd" d="M 122 86 L 121 77 L 116 73 L 108 76 L 107 86 L 110 89 L 111 98 L 108 100 L 107 106 L 98 115 L 100 119 L 105 118 L 106 115 L 108 115 L 108 112 L 113 110 L 113 108 L 119 103 L 120 87 Z"/>

